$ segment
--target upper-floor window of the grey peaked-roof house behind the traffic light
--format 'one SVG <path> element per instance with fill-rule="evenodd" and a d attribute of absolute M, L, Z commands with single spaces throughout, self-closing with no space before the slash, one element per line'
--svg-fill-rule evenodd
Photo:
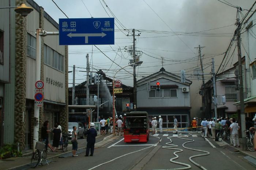
<path fill-rule="evenodd" d="M 157 90 L 150 90 L 149 97 L 177 97 L 177 89 L 161 89 L 159 92 Z"/>

